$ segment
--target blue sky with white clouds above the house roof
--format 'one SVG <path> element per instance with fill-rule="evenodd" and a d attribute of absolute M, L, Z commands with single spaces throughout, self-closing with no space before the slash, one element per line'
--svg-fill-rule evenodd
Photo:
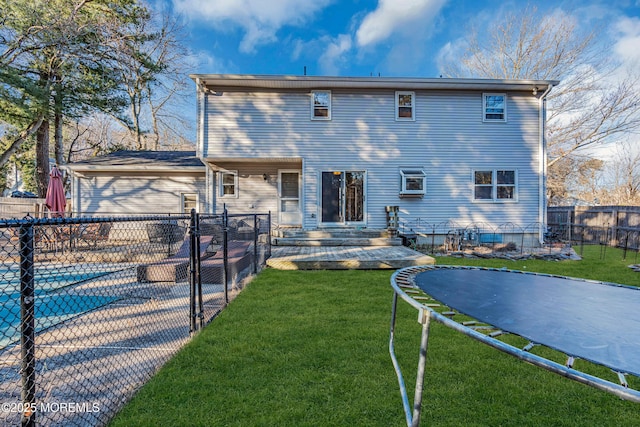
<path fill-rule="evenodd" d="M 438 77 L 471 25 L 524 1 L 151 0 L 184 20 L 193 73 Z M 640 0 L 528 2 L 602 28 L 615 60 L 640 64 Z"/>

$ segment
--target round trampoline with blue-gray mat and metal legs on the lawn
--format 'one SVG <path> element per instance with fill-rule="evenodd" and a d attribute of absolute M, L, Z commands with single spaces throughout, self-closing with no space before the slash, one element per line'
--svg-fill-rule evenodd
<path fill-rule="evenodd" d="M 433 265 L 398 270 L 391 286 L 389 353 L 409 426 L 420 422 L 431 319 L 534 365 L 640 403 L 640 392 L 627 383 L 628 375 L 640 377 L 640 288 L 507 269 Z M 394 350 L 398 297 L 418 310 L 422 324 L 413 408 Z M 505 334 L 520 336 L 528 344 L 507 344 L 499 339 Z M 566 364 L 533 354 L 536 345 L 564 353 Z M 610 368 L 613 381 L 575 369 L 576 359 Z"/>

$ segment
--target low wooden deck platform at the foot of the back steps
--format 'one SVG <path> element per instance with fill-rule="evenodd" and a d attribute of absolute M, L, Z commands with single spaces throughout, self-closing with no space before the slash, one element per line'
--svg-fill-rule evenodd
<path fill-rule="evenodd" d="M 381 270 L 434 263 L 405 246 L 272 246 L 267 260 L 278 270 Z"/>

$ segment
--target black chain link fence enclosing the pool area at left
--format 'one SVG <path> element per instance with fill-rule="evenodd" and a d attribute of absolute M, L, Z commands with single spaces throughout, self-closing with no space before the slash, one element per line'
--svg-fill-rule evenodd
<path fill-rule="evenodd" d="M 270 256 L 270 215 L 0 221 L 0 424 L 105 425 Z"/>

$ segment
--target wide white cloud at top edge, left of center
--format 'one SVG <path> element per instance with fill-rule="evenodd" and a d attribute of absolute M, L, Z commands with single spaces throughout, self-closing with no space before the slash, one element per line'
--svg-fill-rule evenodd
<path fill-rule="evenodd" d="M 175 10 L 217 30 L 240 28 L 245 35 L 240 50 L 255 52 L 256 46 L 277 41 L 286 25 L 302 26 L 332 0 L 173 0 Z"/>

